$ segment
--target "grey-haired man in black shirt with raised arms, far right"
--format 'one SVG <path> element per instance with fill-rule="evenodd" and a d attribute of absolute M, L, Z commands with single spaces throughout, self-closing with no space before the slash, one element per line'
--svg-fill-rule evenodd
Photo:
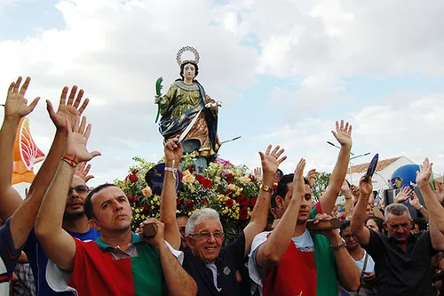
<path fill-rule="evenodd" d="M 428 183 L 430 173 L 429 168 L 427 177 L 427 172 L 422 170 L 416 178 L 422 191 L 426 188 L 424 183 Z M 444 236 L 433 222 L 442 220 L 442 213 L 437 215 L 443 212 L 440 210 L 442 208 L 440 204 L 437 205 L 438 210 L 430 211 L 430 232 L 424 231 L 419 236 L 414 236 L 410 232 L 413 221 L 407 206 L 388 205 L 385 208 L 385 229 L 388 236 L 385 236 L 364 225 L 365 212 L 372 192 L 371 178 L 366 182 L 362 177 L 360 189 L 361 195 L 354 208 L 351 227 L 359 243 L 375 260 L 377 295 L 435 295 L 432 286 L 431 258 L 444 249 Z"/>

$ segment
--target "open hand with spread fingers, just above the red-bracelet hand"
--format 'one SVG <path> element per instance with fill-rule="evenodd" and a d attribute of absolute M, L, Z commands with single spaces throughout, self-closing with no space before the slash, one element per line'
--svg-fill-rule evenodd
<path fill-rule="evenodd" d="M 52 108 L 52 103 L 50 100 L 46 100 L 46 108 L 48 109 L 48 113 L 51 117 L 52 122 L 55 124 L 58 130 L 66 131 L 67 130 L 67 120 L 69 124 L 73 127 L 75 125 L 75 120 L 77 116 L 81 116 L 86 106 L 90 100 L 87 98 L 83 100 L 83 104 L 80 105 L 83 98 L 83 90 L 79 90 L 77 92 L 77 86 L 74 85 L 69 93 L 69 97 L 67 99 L 67 91 L 68 87 L 65 86 L 60 95 L 59 101 L 59 109 L 57 112 Z M 75 94 L 77 93 L 77 96 Z M 80 106 L 80 107 L 79 107 Z"/>

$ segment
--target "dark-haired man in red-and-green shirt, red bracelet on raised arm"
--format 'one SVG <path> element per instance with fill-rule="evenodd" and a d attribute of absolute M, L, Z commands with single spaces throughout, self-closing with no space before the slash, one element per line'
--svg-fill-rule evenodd
<path fill-rule="evenodd" d="M 70 127 L 70 126 L 69 126 Z M 59 196 L 70 190 L 75 166 L 99 152 L 88 152 L 86 141 L 91 125 L 83 117 L 68 129 L 66 154 L 36 220 L 36 236 L 50 258 L 48 284 L 55 291 L 76 291 L 79 295 L 195 295 L 193 279 L 180 267 L 164 241 L 163 223 L 154 223 L 154 237 L 131 232 L 132 212 L 120 188 L 104 184 L 86 197 L 84 212 L 99 231 L 96 241 L 83 242 L 62 228 L 65 202 Z M 142 231 L 143 231 L 142 225 Z M 180 252 L 175 252 L 176 257 Z"/>

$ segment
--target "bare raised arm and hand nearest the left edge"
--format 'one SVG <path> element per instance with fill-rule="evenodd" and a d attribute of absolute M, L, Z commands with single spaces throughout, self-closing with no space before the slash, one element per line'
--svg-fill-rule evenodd
<path fill-rule="evenodd" d="M 27 77 L 20 88 L 21 80 L 19 77 L 8 89 L 4 104 L 4 122 L 0 130 L 0 217 L 3 220 L 11 217 L 23 201 L 11 186 L 14 140 L 20 119 L 31 113 L 40 99 L 36 98 L 28 106 L 25 93 L 31 78 Z"/>

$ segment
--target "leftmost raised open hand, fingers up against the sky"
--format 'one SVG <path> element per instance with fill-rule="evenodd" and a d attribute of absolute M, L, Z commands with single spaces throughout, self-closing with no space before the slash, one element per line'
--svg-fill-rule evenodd
<path fill-rule="evenodd" d="M 20 119 L 27 116 L 36 108 L 38 100 L 40 100 L 40 97 L 37 97 L 28 106 L 28 100 L 25 99 L 25 94 L 31 82 L 31 77 L 27 77 L 25 83 L 20 87 L 21 80 L 22 78 L 20 76 L 15 83 L 9 86 L 6 102 L 4 103 L 4 118 L 12 117 Z"/>

